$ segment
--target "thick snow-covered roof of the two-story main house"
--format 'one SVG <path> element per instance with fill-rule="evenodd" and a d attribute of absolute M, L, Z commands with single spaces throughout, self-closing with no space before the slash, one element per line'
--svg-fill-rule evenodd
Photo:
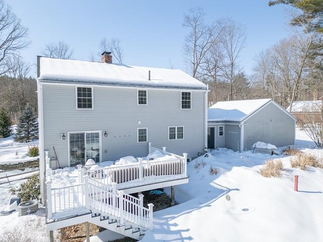
<path fill-rule="evenodd" d="M 150 80 L 148 80 L 149 71 Z M 40 57 L 40 76 L 38 80 L 60 83 L 207 89 L 205 84 L 181 70 L 49 57 Z"/>

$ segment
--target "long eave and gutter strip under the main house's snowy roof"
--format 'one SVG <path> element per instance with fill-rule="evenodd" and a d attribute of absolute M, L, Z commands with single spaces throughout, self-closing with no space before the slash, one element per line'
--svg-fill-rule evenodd
<path fill-rule="evenodd" d="M 52 84 L 52 85 L 87 85 L 87 86 L 110 86 L 110 87 L 129 87 L 129 88 L 150 88 L 150 89 L 179 89 L 179 90 L 196 90 L 196 91 L 207 91 L 207 86 L 204 88 L 196 88 L 189 86 L 167 86 L 167 85 L 136 85 L 136 84 L 119 84 L 119 83 L 103 83 L 103 82 L 86 82 L 86 81 L 59 81 L 59 80 L 46 80 L 37 78 L 40 83 Z"/>

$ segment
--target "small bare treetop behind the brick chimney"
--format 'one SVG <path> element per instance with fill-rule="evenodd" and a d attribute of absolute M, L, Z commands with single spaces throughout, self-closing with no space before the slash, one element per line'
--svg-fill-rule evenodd
<path fill-rule="evenodd" d="M 111 38 L 109 41 L 106 38 L 102 38 L 99 42 L 100 54 L 104 51 L 110 51 L 117 59 L 117 62 L 123 64 L 124 52 L 120 43 L 121 40 L 118 38 Z"/>

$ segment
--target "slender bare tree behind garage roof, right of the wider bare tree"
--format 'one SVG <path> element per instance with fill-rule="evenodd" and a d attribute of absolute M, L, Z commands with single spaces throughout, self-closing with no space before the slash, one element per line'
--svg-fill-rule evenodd
<path fill-rule="evenodd" d="M 245 27 L 231 18 L 222 20 L 226 23 L 223 35 L 223 45 L 225 49 L 226 69 L 225 78 L 230 84 L 230 100 L 233 99 L 234 77 L 239 70 L 239 57 L 241 51 L 246 47 Z"/>

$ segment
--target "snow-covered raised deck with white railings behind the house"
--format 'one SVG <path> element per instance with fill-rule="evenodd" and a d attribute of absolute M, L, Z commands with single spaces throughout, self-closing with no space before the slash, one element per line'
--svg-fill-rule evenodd
<path fill-rule="evenodd" d="M 153 205 L 144 208 L 142 197 L 128 194 L 188 183 L 186 156 L 186 153 L 178 156 L 167 152 L 165 147 L 159 150 L 149 145 L 145 160 L 123 157 L 115 164 L 93 165 L 90 169 L 82 165 L 77 169 L 66 167 L 56 170 L 55 174 L 47 168 L 48 223 L 97 211 L 150 228 L 151 219 L 148 218 L 152 217 Z M 48 156 L 46 164 L 49 164 Z M 133 208 L 131 212 L 127 211 L 127 204 L 135 206 L 138 212 L 133 214 Z M 51 228 L 55 226 L 49 225 Z"/>

